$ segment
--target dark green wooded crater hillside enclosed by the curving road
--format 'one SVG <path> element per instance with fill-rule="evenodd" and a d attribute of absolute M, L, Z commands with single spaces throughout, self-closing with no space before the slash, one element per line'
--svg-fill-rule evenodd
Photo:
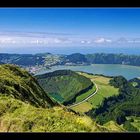
<path fill-rule="evenodd" d="M 71 70 L 57 70 L 36 76 L 42 88 L 57 101 L 68 104 L 93 87 L 85 76 Z"/>

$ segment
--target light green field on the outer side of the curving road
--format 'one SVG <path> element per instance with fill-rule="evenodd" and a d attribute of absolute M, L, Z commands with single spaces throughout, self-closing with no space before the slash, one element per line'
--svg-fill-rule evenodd
<path fill-rule="evenodd" d="M 92 82 L 95 82 L 98 87 L 98 92 L 91 97 L 86 103 L 82 103 L 73 107 L 72 109 L 79 112 L 87 112 L 92 108 L 97 108 L 104 98 L 108 98 L 113 95 L 118 95 L 118 88 L 114 88 L 109 85 L 109 81 L 111 78 L 98 76 L 98 75 L 89 75 L 87 73 L 78 72 L 79 74 L 90 78 Z M 85 109 L 87 107 L 87 109 Z"/>

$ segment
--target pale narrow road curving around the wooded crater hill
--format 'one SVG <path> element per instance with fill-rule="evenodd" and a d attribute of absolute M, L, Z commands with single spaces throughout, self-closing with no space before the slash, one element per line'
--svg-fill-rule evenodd
<path fill-rule="evenodd" d="M 94 85 L 95 85 L 95 87 L 96 87 L 96 91 L 95 91 L 95 92 L 93 92 L 91 95 L 89 95 L 89 96 L 88 96 L 86 99 L 84 99 L 83 101 L 78 102 L 78 103 L 76 103 L 76 104 L 68 105 L 67 107 L 68 107 L 68 108 L 71 108 L 71 107 L 77 106 L 77 105 L 79 105 L 79 104 L 81 104 L 81 103 L 86 102 L 88 99 L 90 99 L 92 96 L 94 96 L 94 95 L 98 92 L 98 86 L 96 85 L 95 82 L 93 82 L 93 83 L 94 83 Z"/>

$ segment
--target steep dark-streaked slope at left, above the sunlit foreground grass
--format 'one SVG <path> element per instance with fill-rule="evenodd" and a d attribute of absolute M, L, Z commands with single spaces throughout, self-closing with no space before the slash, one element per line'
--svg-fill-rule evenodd
<path fill-rule="evenodd" d="M 54 103 L 28 72 L 14 65 L 0 65 L 0 94 L 12 96 L 37 107 Z"/>

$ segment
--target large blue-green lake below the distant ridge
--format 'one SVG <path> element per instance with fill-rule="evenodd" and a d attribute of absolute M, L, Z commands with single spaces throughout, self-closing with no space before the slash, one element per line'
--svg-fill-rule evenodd
<path fill-rule="evenodd" d="M 117 65 L 117 64 L 92 64 L 88 66 L 53 66 L 50 70 L 41 71 L 38 74 L 46 72 L 52 72 L 55 70 L 70 69 L 73 71 L 83 71 L 93 74 L 103 74 L 107 76 L 122 75 L 126 79 L 132 79 L 140 77 L 140 67 L 129 65 Z"/>

